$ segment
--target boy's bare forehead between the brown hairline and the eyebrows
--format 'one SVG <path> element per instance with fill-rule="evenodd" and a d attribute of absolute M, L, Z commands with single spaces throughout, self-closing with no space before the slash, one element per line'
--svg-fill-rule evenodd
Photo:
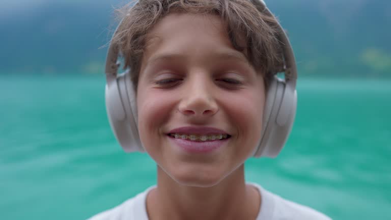
<path fill-rule="evenodd" d="M 144 58 L 149 62 L 183 59 L 188 48 L 209 45 L 210 55 L 248 62 L 242 51 L 236 50 L 219 16 L 213 14 L 172 13 L 160 20 L 147 34 Z M 213 49 L 213 50 L 212 50 Z"/>

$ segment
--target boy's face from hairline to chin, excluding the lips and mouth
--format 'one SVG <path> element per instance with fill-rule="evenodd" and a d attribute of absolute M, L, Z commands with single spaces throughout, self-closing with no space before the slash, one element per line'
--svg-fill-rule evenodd
<path fill-rule="evenodd" d="M 149 37 L 137 87 L 141 141 L 178 183 L 215 185 L 258 145 L 263 77 L 233 48 L 218 16 L 172 13 Z M 217 149 L 189 152 L 168 135 L 184 126 L 214 127 L 231 137 Z"/>

